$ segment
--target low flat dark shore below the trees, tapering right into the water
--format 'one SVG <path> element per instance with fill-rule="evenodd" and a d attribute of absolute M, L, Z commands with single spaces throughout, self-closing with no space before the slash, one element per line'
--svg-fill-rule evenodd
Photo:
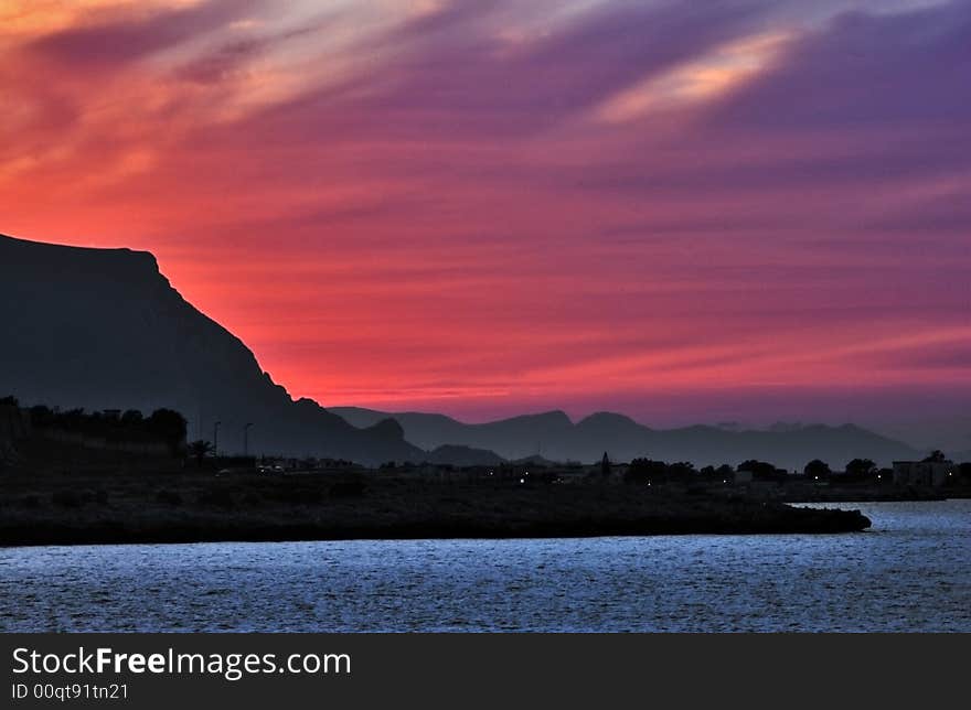
<path fill-rule="evenodd" d="M 861 531 L 858 510 L 633 485 L 202 474 L 20 478 L 0 547 Z"/>

